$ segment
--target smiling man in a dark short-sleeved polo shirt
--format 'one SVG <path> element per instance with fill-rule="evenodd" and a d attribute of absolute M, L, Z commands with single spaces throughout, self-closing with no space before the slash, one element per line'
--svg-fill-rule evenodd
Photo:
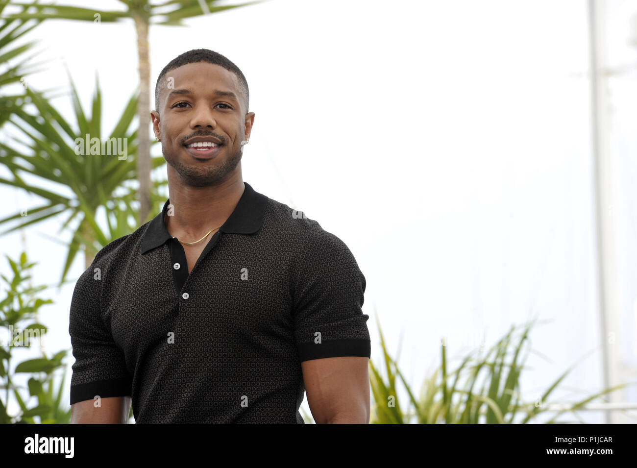
<path fill-rule="evenodd" d="M 162 213 L 97 253 L 71 302 L 71 422 L 369 422 L 366 281 L 339 238 L 241 177 L 245 76 L 207 49 L 164 67 Z"/>

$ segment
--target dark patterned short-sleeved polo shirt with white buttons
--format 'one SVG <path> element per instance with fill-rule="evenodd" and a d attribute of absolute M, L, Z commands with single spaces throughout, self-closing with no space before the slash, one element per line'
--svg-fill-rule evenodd
<path fill-rule="evenodd" d="M 169 200 L 97 253 L 71 301 L 71 404 L 131 395 L 138 423 L 303 423 L 302 361 L 370 357 L 352 252 L 244 185 L 190 274 Z"/>

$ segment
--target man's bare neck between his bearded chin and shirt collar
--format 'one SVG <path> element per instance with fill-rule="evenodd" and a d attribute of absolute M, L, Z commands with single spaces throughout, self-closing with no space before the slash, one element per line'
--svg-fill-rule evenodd
<path fill-rule="evenodd" d="M 244 189 L 241 176 L 213 187 L 171 187 L 169 184 L 173 216 L 164 216 L 166 229 L 180 241 L 198 241 L 210 229 L 221 227 L 225 223 L 236 208 Z M 213 232 L 216 231 L 217 229 Z"/>

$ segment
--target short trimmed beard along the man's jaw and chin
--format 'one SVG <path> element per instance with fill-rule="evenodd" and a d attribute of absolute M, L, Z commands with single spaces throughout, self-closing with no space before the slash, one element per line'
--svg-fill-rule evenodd
<path fill-rule="evenodd" d="M 221 150 L 225 150 L 225 145 L 222 146 Z M 233 173 L 234 169 L 236 169 L 241 162 L 243 148 L 239 148 L 225 159 L 217 155 L 215 159 L 205 163 L 198 163 L 193 160 L 190 166 L 183 164 L 178 155 L 166 152 L 164 148 L 162 148 L 162 153 L 164 153 L 166 162 L 179 174 L 183 185 L 189 185 L 190 187 L 210 187 L 211 185 L 223 183 L 227 180 L 229 175 Z"/>

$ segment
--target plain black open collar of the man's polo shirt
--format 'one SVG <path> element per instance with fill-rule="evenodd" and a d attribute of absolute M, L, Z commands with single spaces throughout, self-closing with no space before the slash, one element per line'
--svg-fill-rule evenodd
<path fill-rule="evenodd" d="M 226 234 L 252 234 L 261 229 L 268 197 L 255 192 L 254 188 L 247 182 L 243 182 L 243 185 L 245 185 L 245 189 L 236 208 L 234 208 L 233 213 L 225 221 L 224 225 L 220 227 L 219 232 L 225 232 Z M 164 224 L 164 215 L 169 204 L 170 199 L 164 203 L 161 213 L 150 221 L 146 234 L 144 234 L 144 238 L 141 241 L 141 253 L 146 253 L 148 250 L 159 247 L 171 238 Z"/>

